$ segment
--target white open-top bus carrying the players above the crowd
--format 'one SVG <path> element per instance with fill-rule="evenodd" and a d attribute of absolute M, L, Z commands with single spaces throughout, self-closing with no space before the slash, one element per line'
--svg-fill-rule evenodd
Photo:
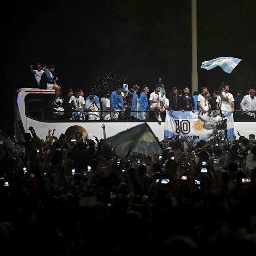
<path fill-rule="evenodd" d="M 66 116 L 62 120 L 56 120 L 53 116 L 53 111 L 50 102 L 55 96 L 55 90 L 41 90 L 37 88 L 21 88 L 15 93 L 15 133 L 18 140 L 24 140 L 23 134 L 29 132 L 28 128 L 33 126 L 37 136 L 44 139 L 48 135 L 48 129 L 55 131 L 55 136 L 59 137 L 61 134 L 67 134 L 69 139 L 76 136 L 79 131 L 83 131 L 85 136 L 93 139 L 93 136 L 98 139 L 103 138 L 102 123 L 106 124 L 107 137 L 113 136 L 128 128 L 132 128 L 141 122 L 130 120 L 118 121 L 73 121 L 70 116 Z M 256 134 L 256 122 L 251 120 L 238 121 L 235 120 L 235 132 L 249 137 L 249 134 Z M 154 117 L 154 115 L 152 115 Z M 240 115 L 241 117 L 241 115 Z M 164 119 L 163 119 L 164 120 Z M 164 139 L 165 122 L 157 122 L 154 118 L 146 120 L 147 124 L 152 129 L 153 133 L 159 140 Z"/>

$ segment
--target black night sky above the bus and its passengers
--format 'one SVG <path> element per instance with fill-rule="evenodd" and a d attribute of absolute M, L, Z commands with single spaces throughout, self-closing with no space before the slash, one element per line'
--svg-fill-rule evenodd
<path fill-rule="evenodd" d="M 36 85 L 29 66 L 37 62 L 54 63 L 64 89 L 88 93 L 123 82 L 153 88 L 160 77 L 167 90 L 191 84 L 190 0 L 7 5 L 1 10 L 3 130 L 13 131 L 13 93 Z M 233 93 L 256 83 L 255 10 L 253 0 L 198 0 L 198 68 L 216 57 L 243 58 L 228 81 Z M 198 77 L 199 86 L 215 90 L 226 73 L 199 68 Z"/>

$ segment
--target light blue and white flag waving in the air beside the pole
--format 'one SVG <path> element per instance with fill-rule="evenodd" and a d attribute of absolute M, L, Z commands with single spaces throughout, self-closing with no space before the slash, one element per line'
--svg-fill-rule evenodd
<path fill-rule="evenodd" d="M 219 57 L 210 61 L 203 61 L 201 68 L 207 70 L 213 69 L 214 67 L 221 67 L 226 73 L 231 73 L 235 67 L 239 64 L 242 59 L 232 57 Z"/>

